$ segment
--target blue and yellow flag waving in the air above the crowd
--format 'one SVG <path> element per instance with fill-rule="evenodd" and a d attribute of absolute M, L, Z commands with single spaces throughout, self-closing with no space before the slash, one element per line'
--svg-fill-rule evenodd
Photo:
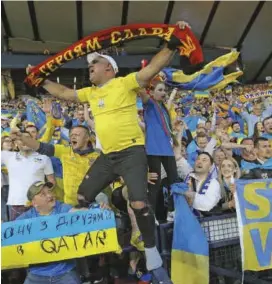
<path fill-rule="evenodd" d="M 202 70 L 186 75 L 182 70 L 163 69 L 166 83 L 186 90 L 222 89 L 243 74 L 242 71 L 224 75 L 224 68 L 237 60 L 239 52 L 232 51 L 206 64 Z"/>

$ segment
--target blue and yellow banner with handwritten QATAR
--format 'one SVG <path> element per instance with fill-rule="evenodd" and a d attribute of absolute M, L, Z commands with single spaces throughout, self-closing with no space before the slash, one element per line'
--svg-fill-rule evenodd
<path fill-rule="evenodd" d="M 2 224 L 2 269 L 118 250 L 111 210 L 95 208 L 36 218 L 30 215 L 30 219 Z"/>

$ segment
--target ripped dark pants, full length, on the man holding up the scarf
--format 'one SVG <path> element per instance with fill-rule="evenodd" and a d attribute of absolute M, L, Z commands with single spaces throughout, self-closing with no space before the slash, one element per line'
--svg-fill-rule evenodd
<path fill-rule="evenodd" d="M 130 202 L 141 201 L 142 209 L 133 209 L 145 247 L 155 246 L 155 219 L 148 206 L 147 157 L 144 146 L 133 146 L 110 154 L 101 154 L 85 175 L 78 189 L 89 202 L 117 177 L 122 177 L 128 187 Z"/>

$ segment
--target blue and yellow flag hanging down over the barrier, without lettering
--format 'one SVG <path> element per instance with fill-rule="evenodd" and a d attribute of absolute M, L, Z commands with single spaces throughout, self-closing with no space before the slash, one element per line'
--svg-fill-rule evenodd
<path fill-rule="evenodd" d="M 209 245 L 197 218 L 185 197 L 185 183 L 171 188 L 175 201 L 175 223 L 171 255 L 171 279 L 174 284 L 209 283 Z"/>

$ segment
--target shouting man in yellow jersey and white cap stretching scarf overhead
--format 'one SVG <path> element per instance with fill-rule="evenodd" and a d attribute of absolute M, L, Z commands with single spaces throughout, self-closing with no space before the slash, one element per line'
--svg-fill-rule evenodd
<path fill-rule="evenodd" d="M 183 29 L 187 24 L 178 22 L 177 25 Z M 165 284 L 172 282 L 162 268 L 162 259 L 155 246 L 155 219 L 147 202 L 148 167 L 136 99 L 137 90 L 149 85 L 180 46 L 180 40 L 171 37 L 149 65 L 119 78 L 115 78 L 118 67 L 112 57 L 91 54 L 87 60 L 89 78 L 94 86 L 78 91 L 49 80 L 43 84 L 48 93 L 59 99 L 89 102 L 102 154 L 86 173 L 78 190 L 79 199 L 93 201 L 103 188 L 121 176 L 128 187 L 130 205 L 145 243 L 147 269 L 152 271 L 154 282 Z"/>

